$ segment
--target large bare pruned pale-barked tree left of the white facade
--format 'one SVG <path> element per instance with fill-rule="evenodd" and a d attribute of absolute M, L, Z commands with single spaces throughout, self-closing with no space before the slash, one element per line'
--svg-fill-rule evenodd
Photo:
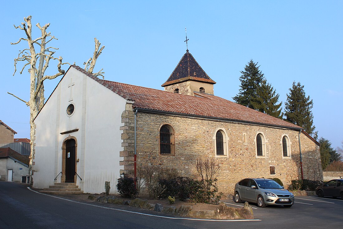
<path fill-rule="evenodd" d="M 56 77 L 63 75 L 65 72 L 61 69 L 61 65 L 68 64 L 62 63 L 62 57 L 54 57 L 55 54 L 54 50 L 58 50 L 58 48 L 48 46 L 47 44 L 52 40 L 57 40 L 55 36 L 52 36 L 50 32 L 46 32 L 47 28 L 49 27 L 50 23 L 45 24 L 44 26 L 40 26 L 39 23 L 36 26 L 41 31 L 41 36 L 34 39 L 32 37 L 32 23 L 31 23 L 32 16 L 28 16 L 24 18 L 24 21 L 27 23 L 22 22 L 22 25 L 15 26 L 15 29 L 20 29 L 25 32 L 25 36 L 21 37 L 19 41 L 11 44 L 19 44 L 21 41 L 27 41 L 28 48 L 25 48 L 22 51 L 19 51 L 18 57 L 14 59 L 14 74 L 17 70 L 17 64 L 23 62 L 23 67 L 20 71 L 20 74 L 23 73 L 23 70 L 26 66 L 28 66 L 28 73 L 30 74 L 30 99 L 25 101 L 10 92 L 8 94 L 16 97 L 17 99 L 25 102 L 25 104 L 30 108 L 30 138 L 31 138 L 31 155 L 30 155 L 30 164 L 29 164 L 29 172 L 31 172 L 32 168 L 32 157 L 33 157 L 33 140 L 34 140 L 34 118 L 36 117 L 37 113 L 42 109 L 44 105 L 44 80 L 46 79 L 55 79 Z M 57 60 L 57 73 L 55 75 L 45 75 L 45 71 L 49 66 L 50 60 Z"/>

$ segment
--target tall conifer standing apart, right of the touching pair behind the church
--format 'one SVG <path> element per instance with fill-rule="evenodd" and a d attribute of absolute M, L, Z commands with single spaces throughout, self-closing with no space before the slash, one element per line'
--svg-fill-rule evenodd
<path fill-rule="evenodd" d="M 308 134 L 317 139 L 318 132 L 315 132 L 316 127 L 313 126 L 312 107 L 313 102 L 309 96 L 306 97 L 304 86 L 301 86 L 300 82 L 295 84 L 293 81 L 293 86 L 289 88 L 285 103 L 286 121 L 305 128 Z"/>

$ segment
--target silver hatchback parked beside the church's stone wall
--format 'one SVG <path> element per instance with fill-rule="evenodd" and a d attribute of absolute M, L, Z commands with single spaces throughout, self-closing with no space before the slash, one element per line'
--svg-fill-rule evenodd
<path fill-rule="evenodd" d="M 294 195 L 272 179 L 246 178 L 235 185 L 234 201 L 256 203 L 260 208 L 266 205 L 290 208 L 294 204 Z"/>

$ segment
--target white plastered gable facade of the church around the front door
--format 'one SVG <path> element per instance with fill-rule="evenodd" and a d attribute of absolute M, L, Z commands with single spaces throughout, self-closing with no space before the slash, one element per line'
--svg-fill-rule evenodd
<path fill-rule="evenodd" d="M 67 107 L 74 105 L 72 115 Z M 33 187 L 48 188 L 61 182 L 62 145 L 76 139 L 76 185 L 85 193 L 102 193 L 105 181 L 111 191 L 123 166 L 121 114 L 126 99 L 75 68 L 69 68 L 35 119 Z M 61 134 L 64 132 L 70 133 Z M 57 180 L 54 181 L 57 176 Z"/>

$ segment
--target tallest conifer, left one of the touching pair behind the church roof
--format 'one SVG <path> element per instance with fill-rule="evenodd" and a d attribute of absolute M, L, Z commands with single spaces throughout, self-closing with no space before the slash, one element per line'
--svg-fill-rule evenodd
<path fill-rule="evenodd" d="M 257 66 L 258 62 L 254 63 L 252 59 L 245 65 L 244 71 L 239 77 L 241 83 L 239 93 L 233 99 L 240 105 L 254 109 L 251 104 L 252 98 L 257 97 L 257 90 L 261 87 L 263 81 L 263 73 Z"/>

